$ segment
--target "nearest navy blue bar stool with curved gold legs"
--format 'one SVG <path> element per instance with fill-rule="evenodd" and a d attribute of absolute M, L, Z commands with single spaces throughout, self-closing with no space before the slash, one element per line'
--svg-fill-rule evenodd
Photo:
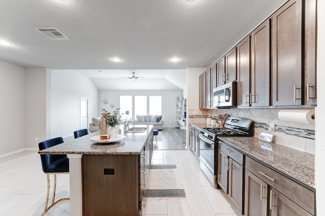
<path fill-rule="evenodd" d="M 63 139 L 61 137 L 53 138 L 50 140 L 40 142 L 39 149 L 41 151 L 43 149 L 47 149 L 61 143 L 63 143 Z M 55 190 L 56 190 L 56 174 L 69 174 L 69 159 L 66 154 L 40 154 L 40 155 L 41 155 L 42 168 L 44 174 L 47 177 L 47 193 L 45 199 L 45 207 L 42 213 L 43 216 L 45 212 L 57 202 L 70 199 L 70 198 L 61 198 L 57 201 L 54 201 Z M 53 195 L 52 195 L 51 205 L 47 206 L 49 202 L 49 193 L 50 193 L 50 175 L 53 175 L 54 178 Z"/>

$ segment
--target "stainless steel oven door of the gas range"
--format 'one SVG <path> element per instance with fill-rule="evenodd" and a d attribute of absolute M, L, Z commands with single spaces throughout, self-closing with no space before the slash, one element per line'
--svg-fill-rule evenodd
<path fill-rule="evenodd" d="M 216 187 L 216 176 L 214 172 L 214 145 L 215 142 L 204 135 L 199 135 L 200 139 L 200 167 L 211 184 Z"/>

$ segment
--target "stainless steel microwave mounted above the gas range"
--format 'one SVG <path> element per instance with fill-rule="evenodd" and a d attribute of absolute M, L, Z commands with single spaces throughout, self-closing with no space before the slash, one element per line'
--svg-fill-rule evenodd
<path fill-rule="evenodd" d="M 237 82 L 229 82 L 213 89 L 214 107 L 237 106 Z"/>

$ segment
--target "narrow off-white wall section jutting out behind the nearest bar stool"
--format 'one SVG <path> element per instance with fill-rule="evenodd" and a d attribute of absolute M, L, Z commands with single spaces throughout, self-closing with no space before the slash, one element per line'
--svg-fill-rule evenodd
<path fill-rule="evenodd" d="M 47 110 L 47 79 L 49 76 L 47 68 L 27 68 L 26 69 L 26 131 L 25 147 L 38 148 L 40 141 L 48 139 Z M 35 140 L 35 138 L 38 140 Z"/>

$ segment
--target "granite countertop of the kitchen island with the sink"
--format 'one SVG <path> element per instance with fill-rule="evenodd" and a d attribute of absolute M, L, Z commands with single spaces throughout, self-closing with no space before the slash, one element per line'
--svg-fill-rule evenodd
<path fill-rule="evenodd" d="M 119 154 L 119 155 L 139 155 L 143 146 L 151 134 L 153 125 L 130 125 L 131 127 L 147 127 L 142 133 L 126 133 L 125 139 L 108 144 L 95 143 L 91 137 L 100 135 L 100 132 L 90 133 L 80 138 L 69 140 L 62 144 L 39 151 L 39 154 Z M 123 130 L 123 129 L 122 129 Z M 122 132 L 123 134 L 123 132 Z M 108 145 L 107 145 L 108 144 Z"/>

